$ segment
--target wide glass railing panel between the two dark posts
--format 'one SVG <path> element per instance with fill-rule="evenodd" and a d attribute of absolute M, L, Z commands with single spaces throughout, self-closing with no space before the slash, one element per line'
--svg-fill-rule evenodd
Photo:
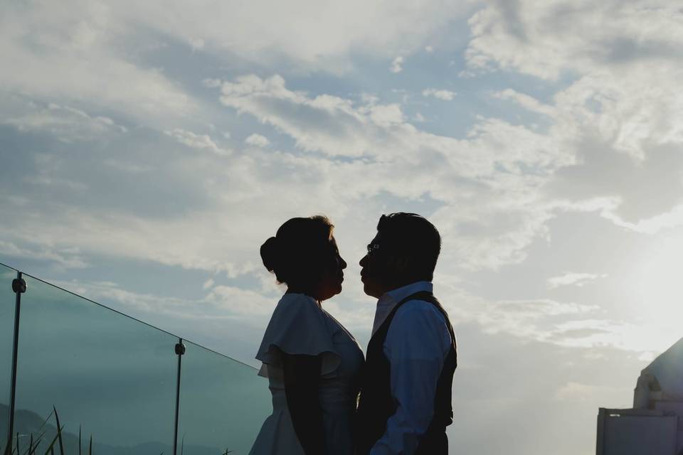
<path fill-rule="evenodd" d="M 41 422 L 54 406 L 65 453 L 78 453 L 80 431 L 97 455 L 171 454 L 178 339 L 24 277 L 14 424 L 22 447 L 41 431 L 52 439 L 55 418 Z"/>

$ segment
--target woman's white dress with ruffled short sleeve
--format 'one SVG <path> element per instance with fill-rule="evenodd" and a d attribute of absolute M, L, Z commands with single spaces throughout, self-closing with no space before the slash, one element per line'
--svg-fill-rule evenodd
<path fill-rule="evenodd" d="M 287 408 L 280 352 L 322 355 L 319 397 L 326 454 L 352 455 L 351 417 L 356 408 L 363 351 L 351 333 L 312 297 L 285 294 L 273 311 L 256 358 L 270 380 L 272 414 L 250 455 L 304 455 Z"/>

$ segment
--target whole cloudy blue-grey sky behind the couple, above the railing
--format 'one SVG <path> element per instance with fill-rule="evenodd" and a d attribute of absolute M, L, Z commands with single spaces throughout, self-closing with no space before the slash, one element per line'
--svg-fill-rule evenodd
<path fill-rule="evenodd" d="M 4 1 L 0 262 L 255 365 L 260 245 L 325 214 L 324 307 L 424 215 L 459 347 L 455 454 L 591 454 L 683 332 L 674 1 Z"/>

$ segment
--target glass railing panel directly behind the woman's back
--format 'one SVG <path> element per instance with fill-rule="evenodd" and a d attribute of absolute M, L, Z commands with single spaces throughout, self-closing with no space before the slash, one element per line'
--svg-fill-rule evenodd
<path fill-rule="evenodd" d="M 268 380 L 248 365 L 184 343 L 179 448 L 184 455 L 248 454 L 272 410 Z"/>

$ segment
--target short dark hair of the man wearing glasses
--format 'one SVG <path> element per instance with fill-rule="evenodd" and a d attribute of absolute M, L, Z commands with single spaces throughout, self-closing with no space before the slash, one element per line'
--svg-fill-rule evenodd
<path fill-rule="evenodd" d="M 408 259 L 401 281 L 432 281 L 441 252 L 441 236 L 435 226 L 415 213 L 382 215 L 377 223 L 382 254 Z"/>

